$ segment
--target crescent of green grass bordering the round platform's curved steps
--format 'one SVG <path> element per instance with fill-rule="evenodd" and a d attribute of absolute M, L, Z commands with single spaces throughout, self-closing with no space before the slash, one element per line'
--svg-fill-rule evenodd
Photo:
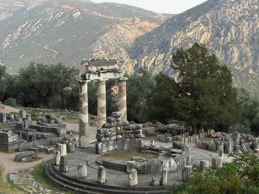
<path fill-rule="evenodd" d="M 47 180 L 47 178 L 45 177 L 45 168 L 49 161 L 51 161 L 51 160 L 45 161 L 44 163 L 41 163 L 38 166 L 36 166 L 35 171 L 32 171 L 31 175 L 35 176 L 35 174 L 36 174 L 37 179 L 35 179 L 35 180 L 37 182 L 39 182 L 40 184 L 45 184 L 46 188 L 52 190 L 53 192 L 72 194 L 73 192 L 63 191 L 60 188 L 54 187 L 53 184 L 51 184 Z"/>

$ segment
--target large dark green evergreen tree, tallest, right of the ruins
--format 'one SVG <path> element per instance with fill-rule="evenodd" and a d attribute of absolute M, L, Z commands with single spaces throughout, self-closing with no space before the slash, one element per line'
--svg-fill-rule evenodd
<path fill-rule="evenodd" d="M 237 91 L 227 66 L 199 43 L 177 49 L 172 59 L 171 68 L 178 74 L 179 95 L 171 96 L 176 118 L 189 122 L 193 134 L 200 133 L 208 123 L 233 123 Z"/>

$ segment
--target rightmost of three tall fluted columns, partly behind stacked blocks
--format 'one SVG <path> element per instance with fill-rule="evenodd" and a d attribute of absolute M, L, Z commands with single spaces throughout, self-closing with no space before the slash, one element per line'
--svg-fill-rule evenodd
<path fill-rule="evenodd" d="M 122 112 L 122 121 L 127 121 L 126 80 L 128 80 L 126 77 L 118 79 L 118 112 Z"/>

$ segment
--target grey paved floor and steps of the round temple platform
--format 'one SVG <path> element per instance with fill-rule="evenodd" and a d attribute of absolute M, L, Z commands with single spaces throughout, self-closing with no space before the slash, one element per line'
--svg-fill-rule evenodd
<path fill-rule="evenodd" d="M 202 151 L 202 152 L 201 152 Z M 193 148 L 191 151 L 192 163 L 199 163 L 200 160 L 209 160 L 211 164 L 212 156 L 218 155 L 216 152 L 208 152 Z M 105 168 L 108 182 L 104 184 L 97 183 L 97 171 L 99 165 L 96 163 L 95 145 L 88 148 L 75 148 L 74 153 L 67 153 L 68 171 L 61 173 L 59 166 L 53 166 L 52 161 L 48 163 L 45 169 L 47 179 L 54 185 L 75 193 L 113 193 L 113 194 L 147 194 L 147 193 L 167 193 L 164 186 L 151 186 L 152 177 L 160 180 L 161 175 L 138 174 L 138 185 L 135 187 L 127 186 L 128 174 L 126 171 L 113 170 Z M 193 157 L 192 157 L 193 156 Z M 87 161 L 87 162 L 86 162 Z M 87 178 L 84 180 L 76 179 L 77 166 L 84 163 L 87 166 Z M 182 170 L 168 173 L 167 184 L 179 183 L 182 181 Z"/>

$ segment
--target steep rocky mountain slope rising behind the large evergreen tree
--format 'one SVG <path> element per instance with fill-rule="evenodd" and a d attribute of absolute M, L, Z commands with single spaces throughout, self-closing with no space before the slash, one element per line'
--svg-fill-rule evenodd
<path fill-rule="evenodd" d="M 258 13 L 258 0 L 206 1 L 139 37 L 129 50 L 138 62 L 134 69 L 147 66 L 153 73 L 173 75 L 171 54 L 201 42 L 230 67 L 235 86 L 258 91 Z"/>

